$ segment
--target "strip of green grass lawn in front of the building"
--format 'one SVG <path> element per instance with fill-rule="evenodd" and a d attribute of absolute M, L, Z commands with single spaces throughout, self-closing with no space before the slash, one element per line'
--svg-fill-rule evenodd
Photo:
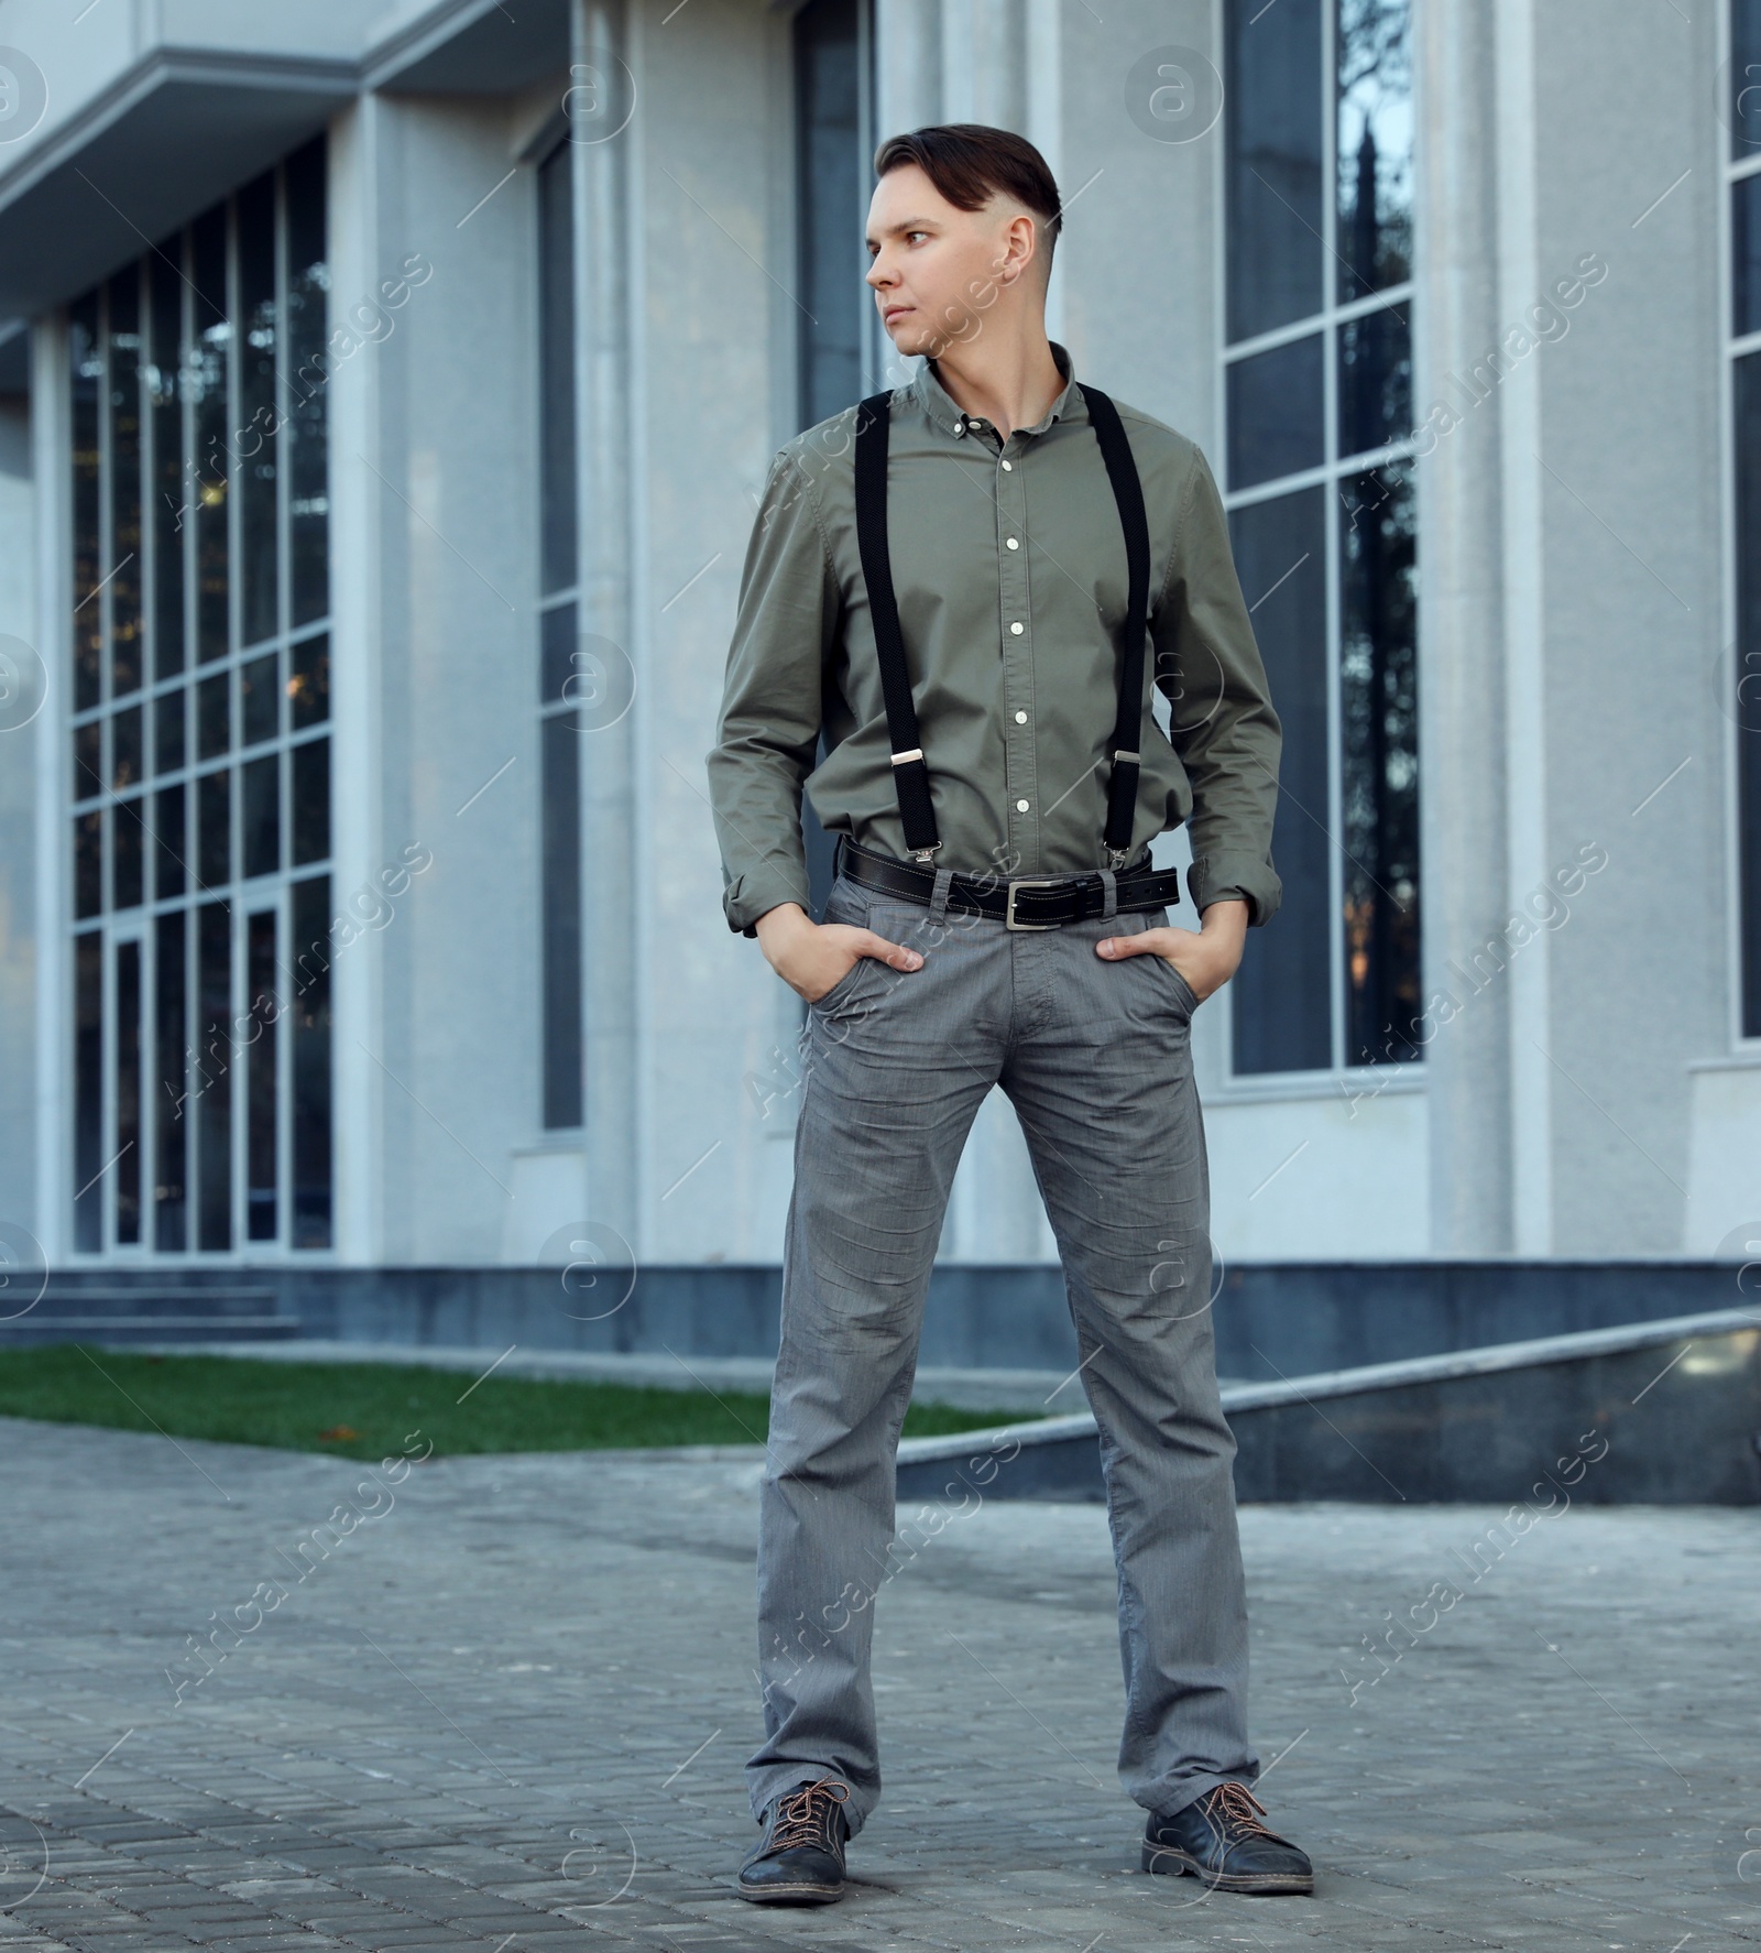
<path fill-rule="evenodd" d="M 258 1363 L 43 1344 L 0 1350 L 0 1416 L 381 1459 L 422 1453 L 428 1443 L 435 1457 L 754 1445 L 765 1439 L 769 1398 L 527 1377 L 490 1377 L 472 1389 L 463 1371 L 414 1363 Z M 912 1404 L 904 1435 L 939 1437 L 1033 1416 L 1044 1412 Z"/>

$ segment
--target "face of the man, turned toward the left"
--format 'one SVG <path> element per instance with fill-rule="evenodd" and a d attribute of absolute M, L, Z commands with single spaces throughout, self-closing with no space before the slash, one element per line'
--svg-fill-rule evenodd
<path fill-rule="evenodd" d="M 939 357 L 974 338 L 998 289 L 1027 268 L 1033 219 L 1000 195 L 961 211 L 908 162 L 888 170 L 869 203 L 869 287 L 902 353 Z"/>

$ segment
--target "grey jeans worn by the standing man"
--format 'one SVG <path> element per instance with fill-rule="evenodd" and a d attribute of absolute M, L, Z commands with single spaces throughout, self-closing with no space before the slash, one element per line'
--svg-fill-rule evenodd
<path fill-rule="evenodd" d="M 998 1084 L 1058 1240 L 1101 1428 L 1126 1695 L 1121 1781 L 1162 1812 L 1226 1777 L 1251 1783 L 1197 1000 L 1164 957 L 1095 955 L 1103 935 L 1162 926 L 1167 912 L 1019 932 L 988 916 L 937 920 L 840 875 L 826 922 L 867 924 L 925 961 L 900 973 L 863 957 L 808 1008 L 802 1033 L 759 1508 L 754 1816 L 824 1773 L 849 1783 L 851 1832 L 879 1803 L 869 1652 L 892 1566 L 894 1447 L 955 1166 Z"/>

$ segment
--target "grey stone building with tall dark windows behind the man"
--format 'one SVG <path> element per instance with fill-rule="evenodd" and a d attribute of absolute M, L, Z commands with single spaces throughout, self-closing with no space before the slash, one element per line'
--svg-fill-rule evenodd
<path fill-rule="evenodd" d="M 800 1006 L 703 756 L 771 453 L 906 377 L 867 158 L 955 119 L 1058 174 L 1052 336 L 1212 459 L 1285 719 L 1195 1025 L 1224 1264 L 1757 1232 L 1757 0 L 0 41 L 0 1219 L 57 1269 L 775 1264 Z M 1052 1258 L 994 1098 L 943 1260 Z"/>

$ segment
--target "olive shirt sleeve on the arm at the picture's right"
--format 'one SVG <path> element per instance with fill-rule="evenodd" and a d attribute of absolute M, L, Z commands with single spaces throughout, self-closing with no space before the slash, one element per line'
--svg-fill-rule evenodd
<path fill-rule="evenodd" d="M 1228 518 L 1205 455 L 1193 449 L 1175 543 L 1152 621 L 1156 684 L 1169 701 L 1169 742 L 1193 789 L 1187 891 L 1242 896 L 1249 924 L 1277 914 L 1271 861 L 1283 727 L 1236 578 Z"/>

